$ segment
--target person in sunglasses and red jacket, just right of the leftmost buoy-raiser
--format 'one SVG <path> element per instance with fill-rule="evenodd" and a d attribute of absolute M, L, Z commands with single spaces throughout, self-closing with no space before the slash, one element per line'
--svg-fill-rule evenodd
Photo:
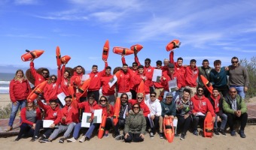
<path fill-rule="evenodd" d="M 59 69 L 58 69 L 59 70 Z M 61 83 L 61 79 L 57 78 L 56 75 L 51 75 L 49 80 L 47 81 L 46 86 L 44 87 L 44 100 L 47 104 L 50 101 L 57 101 L 57 103 L 63 107 L 57 95 L 59 94 L 59 84 Z"/>

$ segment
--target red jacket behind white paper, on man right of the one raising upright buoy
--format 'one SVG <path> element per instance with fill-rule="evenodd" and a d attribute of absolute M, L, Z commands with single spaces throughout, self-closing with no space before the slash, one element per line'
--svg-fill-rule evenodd
<path fill-rule="evenodd" d="M 105 96 L 114 95 L 115 84 L 111 88 L 108 85 L 112 77 L 114 77 L 114 75 L 110 74 L 109 76 L 107 76 L 105 74 L 100 78 L 100 85 L 102 86 L 102 95 L 105 95 Z"/>

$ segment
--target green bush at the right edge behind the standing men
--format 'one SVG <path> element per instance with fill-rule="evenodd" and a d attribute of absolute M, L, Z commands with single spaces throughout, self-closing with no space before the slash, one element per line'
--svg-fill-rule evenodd
<path fill-rule="evenodd" d="M 248 77 L 249 77 L 249 87 L 248 92 L 246 93 L 246 98 L 249 99 L 256 96 L 256 57 L 252 57 L 251 61 L 246 59 L 240 60 L 240 65 L 247 68 Z"/>

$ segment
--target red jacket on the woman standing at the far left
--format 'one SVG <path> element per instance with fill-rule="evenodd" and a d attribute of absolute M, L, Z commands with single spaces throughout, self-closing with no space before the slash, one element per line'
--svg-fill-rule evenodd
<path fill-rule="evenodd" d="M 10 99 L 13 103 L 16 101 L 26 100 L 30 92 L 32 92 L 32 90 L 28 80 L 22 80 L 21 83 L 18 80 L 11 80 L 9 93 Z"/>

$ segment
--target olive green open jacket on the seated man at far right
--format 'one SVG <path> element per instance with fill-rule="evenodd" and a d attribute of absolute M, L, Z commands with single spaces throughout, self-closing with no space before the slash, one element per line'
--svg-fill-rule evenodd
<path fill-rule="evenodd" d="M 225 113 L 235 114 L 235 111 L 232 110 L 232 104 L 230 104 L 231 100 L 232 98 L 230 98 L 230 96 L 224 98 L 224 101 L 222 104 L 223 110 Z M 247 106 L 245 104 L 245 101 L 243 101 L 239 95 L 236 95 L 236 106 L 237 106 L 237 110 L 241 110 L 242 114 L 247 112 Z"/>

